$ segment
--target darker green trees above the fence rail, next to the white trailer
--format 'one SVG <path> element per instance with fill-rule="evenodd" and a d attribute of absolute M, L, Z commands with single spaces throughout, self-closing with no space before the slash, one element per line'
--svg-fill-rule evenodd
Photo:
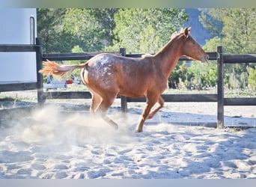
<path fill-rule="evenodd" d="M 37 9 L 38 37 L 43 38 L 43 52 L 70 52 L 73 46 L 84 51 L 101 51 L 114 38 L 117 9 Z"/>

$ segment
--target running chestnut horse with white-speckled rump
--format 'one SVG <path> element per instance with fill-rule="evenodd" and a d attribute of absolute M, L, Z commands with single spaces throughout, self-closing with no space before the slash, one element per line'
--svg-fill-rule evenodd
<path fill-rule="evenodd" d="M 174 70 L 180 56 L 200 62 L 206 62 L 209 58 L 190 36 L 190 31 L 191 27 L 184 28 L 171 37 L 155 55 L 128 58 L 101 53 L 84 64 L 77 65 L 58 65 L 46 61 L 40 73 L 64 76 L 77 68 L 82 69 L 82 82 L 92 95 L 91 113 L 100 114 L 100 117 L 115 129 L 118 129 L 118 124 L 107 117 L 106 113 L 118 93 L 128 97 L 146 97 L 147 102 L 136 127 L 136 132 L 142 132 L 144 121 L 152 118 L 163 107 L 164 99 L 161 94 L 165 91 L 168 76 Z M 156 102 L 159 106 L 151 111 Z"/>

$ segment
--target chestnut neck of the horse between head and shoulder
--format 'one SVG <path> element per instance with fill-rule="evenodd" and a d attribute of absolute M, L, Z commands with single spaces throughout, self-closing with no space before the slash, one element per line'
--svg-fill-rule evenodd
<path fill-rule="evenodd" d="M 172 70 L 177 64 L 180 56 L 182 55 L 180 52 L 182 43 L 177 42 L 177 38 L 169 41 L 158 53 L 156 53 L 155 57 L 158 61 L 159 69 L 162 71 L 162 75 L 168 79 Z"/>

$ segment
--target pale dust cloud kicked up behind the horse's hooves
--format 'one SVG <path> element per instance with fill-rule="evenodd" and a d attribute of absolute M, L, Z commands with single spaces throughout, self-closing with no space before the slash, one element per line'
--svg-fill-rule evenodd
<path fill-rule="evenodd" d="M 61 146 L 65 150 L 85 144 L 131 143 L 131 136 L 135 135 L 134 120 L 138 118 L 124 117 L 118 111 L 110 113 L 109 117 L 118 122 L 118 130 L 89 112 L 60 111 L 50 105 L 37 108 L 30 117 L 11 121 L 13 125 L 8 134 L 19 137 L 25 144 L 58 147 L 58 150 Z"/>

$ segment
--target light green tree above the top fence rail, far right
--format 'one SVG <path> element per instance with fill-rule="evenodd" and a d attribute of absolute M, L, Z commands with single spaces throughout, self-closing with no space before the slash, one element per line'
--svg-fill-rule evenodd
<path fill-rule="evenodd" d="M 245 54 L 255 53 L 256 49 L 256 12 L 255 8 L 226 8 L 210 9 L 209 15 L 222 22 L 222 29 L 218 30 L 222 37 L 213 37 L 207 42 L 204 49 L 210 46 L 225 46 L 225 53 Z M 207 30 L 216 29 L 216 25 L 207 25 L 202 22 Z"/>

